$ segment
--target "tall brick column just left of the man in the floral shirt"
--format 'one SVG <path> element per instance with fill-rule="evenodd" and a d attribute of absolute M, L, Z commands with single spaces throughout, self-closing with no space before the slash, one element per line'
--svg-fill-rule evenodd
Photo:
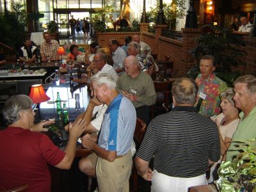
<path fill-rule="evenodd" d="M 182 57 L 180 62 L 175 65 L 175 76 L 185 77 L 191 67 L 196 64 L 195 59 L 189 54 L 189 50 L 196 45 L 195 38 L 202 32 L 201 28 L 181 29 L 183 31 Z"/>

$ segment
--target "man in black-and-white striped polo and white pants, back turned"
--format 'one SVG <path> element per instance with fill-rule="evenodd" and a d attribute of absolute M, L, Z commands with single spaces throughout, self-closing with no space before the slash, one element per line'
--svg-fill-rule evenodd
<path fill-rule="evenodd" d="M 198 87 L 192 79 L 177 79 L 172 86 L 175 108 L 150 122 L 136 154 L 136 168 L 151 191 L 188 191 L 207 184 L 207 165 L 220 159 L 218 128 L 194 108 Z M 154 173 L 148 167 L 152 156 Z"/>

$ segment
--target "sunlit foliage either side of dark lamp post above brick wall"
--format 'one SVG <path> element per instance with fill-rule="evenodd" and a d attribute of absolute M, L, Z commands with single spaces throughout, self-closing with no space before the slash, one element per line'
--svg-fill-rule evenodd
<path fill-rule="evenodd" d="M 177 19 L 182 19 L 185 16 L 186 10 L 185 0 L 173 0 L 172 3 L 163 3 L 164 19 L 168 28 L 175 29 L 177 25 Z M 157 13 L 159 12 L 159 0 L 157 0 L 156 7 L 151 7 L 148 12 L 148 20 L 150 22 L 156 22 Z"/>

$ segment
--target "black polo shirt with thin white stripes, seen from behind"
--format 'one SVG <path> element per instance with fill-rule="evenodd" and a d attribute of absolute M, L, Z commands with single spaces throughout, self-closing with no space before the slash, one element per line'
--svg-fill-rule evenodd
<path fill-rule="evenodd" d="M 137 156 L 154 159 L 154 168 L 171 177 L 205 173 L 208 159 L 220 159 L 218 127 L 194 107 L 179 106 L 150 122 Z"/>

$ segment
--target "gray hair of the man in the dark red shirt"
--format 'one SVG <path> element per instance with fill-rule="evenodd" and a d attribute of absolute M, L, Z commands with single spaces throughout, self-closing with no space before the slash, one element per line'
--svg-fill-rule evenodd
<path fill-rule="evenodd" d="M 32 100 L 27 95 L 13 95 L 6 100 L 3 116 L 7 125 L 17 122 L 20 119 L 20 111 L 31 109 L 32 104 Z"/>

